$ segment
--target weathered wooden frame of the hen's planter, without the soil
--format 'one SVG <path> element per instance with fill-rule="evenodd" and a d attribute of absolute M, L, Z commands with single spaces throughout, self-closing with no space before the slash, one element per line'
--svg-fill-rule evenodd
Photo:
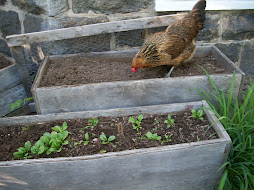
<path fill-rule="evenodd" d="M 132 58 L 137 51 L 137 49 L 131 49 L 83 54 L 82 56 Z M 244 73 L 215 46 L 200 46 L 195 56 L 202 57 L 210 54 L 226 68 L 236 70 L 234 95 L 237 95 Z M 50 56 L 41 64 L 31 90 L 38 114 L 198 101 L 202 98 L 192 88 L 213 91 L 206 75 L 40 87 L 40 81 L 51 60 L 72 56 L 77 55 Z M 211 77 L 220 90 L 229 90 L 232 74 L 216 74 Z"/>

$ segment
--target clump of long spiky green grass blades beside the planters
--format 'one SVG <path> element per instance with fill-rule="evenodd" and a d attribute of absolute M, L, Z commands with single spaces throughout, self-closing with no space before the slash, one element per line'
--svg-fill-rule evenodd
<path fill-rule="evenodd" d="M 206 72 L 206 71 L 205 71 Z M 215 92 L 196 90 L 219 118 L 232 140 L 218 190 L 254 189 L 254 83 L 241 97 L 234 97 L 235 73 L 229 93 L 220 91 L 206 72 Z"/>

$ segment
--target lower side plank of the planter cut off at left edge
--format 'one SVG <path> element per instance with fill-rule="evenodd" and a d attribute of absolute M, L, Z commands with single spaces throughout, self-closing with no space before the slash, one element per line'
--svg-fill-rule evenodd
<path fill-rule="evenodd" d="M 26 93 L 22 84 L 0 93 L 0 116 L 9 113 L 10 104 L 25 97 Z"/>

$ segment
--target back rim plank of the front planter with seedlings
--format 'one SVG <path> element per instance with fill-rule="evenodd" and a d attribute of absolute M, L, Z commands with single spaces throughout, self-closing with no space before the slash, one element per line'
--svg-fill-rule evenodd
<path fill-rule="evenodd" d="M 98 111 L 81 111 L 81 112 L 68 112 L 59 114 L 46 114 L 46 115 L 32 115 L 32 116 L 19 116 L 12 118 L 1 118 L 0 126 L 10 126 L 14 124 L 28 124 L 40 123 L 61 119 L 75 119 L 75 118 L 93 118 L 98 116 L 126 116 L 139 113 L 171 113 L 198 108 L 202 106 L 202 102 L 188 102 L 179 104 L 165 104 L 156 106 L 143 106 L 131 108 L 108 109 Z"/>

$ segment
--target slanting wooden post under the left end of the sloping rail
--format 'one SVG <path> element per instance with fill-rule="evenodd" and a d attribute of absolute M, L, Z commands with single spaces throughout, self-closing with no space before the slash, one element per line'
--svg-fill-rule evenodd
<path fill-rule="evenodd" d="M 22 46 L 11 47 L 10 49 L 11 49 L 12 56 L 15 59 L 19 76 L 24 86 L 26 95 L 27 97 L 31 97 L 32 93 L 30 89 L 32 87 L 32 80 L 27 68 L 27 60 L 24 53 L 25 50 Z"/>

